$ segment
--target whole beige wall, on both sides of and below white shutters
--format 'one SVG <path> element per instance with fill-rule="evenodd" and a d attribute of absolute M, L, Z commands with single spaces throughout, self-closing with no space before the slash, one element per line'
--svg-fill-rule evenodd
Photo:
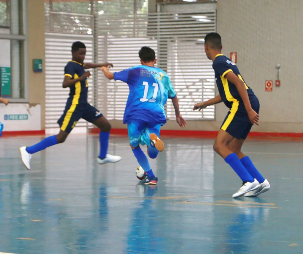
<path fill-rule="evenodd" d="M 41 104 L 41 124 L 45 126 L 45 29 L 44 4 L 28 0 L 29 102 Z M 301 0 L 219 0 L 217 31 L 223 40 L 223 53 L 238 53 L 238 67 L 246 83 L 260 99 L 259 132 L 302 132 L 303 113 L 301 71 L 303 43 L 303 4 Z M 32 72 L 32 59 L 43 59 L 43 73 Z M 281 87 L 265 92 L 265 80 L 276 78 L 281 64 Z M 216 107 L 216 121 L 190 121 L 188 130 L 217 130 L 228 109 Z M 114 128 L 126 128 L 112 121 Z M 164 129 L 179 129 L 168 121 Z"/>

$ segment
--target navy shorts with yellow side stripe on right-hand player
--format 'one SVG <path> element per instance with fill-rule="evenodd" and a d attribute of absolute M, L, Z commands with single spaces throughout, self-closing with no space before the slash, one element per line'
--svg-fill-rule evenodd
<path fill-rule="evenodd" d="M 250 103 L 252 109 L 259 114 L 260 104 L 258 98 L 252 98 Z M 243 102 L 235 101 L 226 115 L 221 129 L 236 139 L 246 139 L 251 127 L 252 123 L 249 121 Z"/>

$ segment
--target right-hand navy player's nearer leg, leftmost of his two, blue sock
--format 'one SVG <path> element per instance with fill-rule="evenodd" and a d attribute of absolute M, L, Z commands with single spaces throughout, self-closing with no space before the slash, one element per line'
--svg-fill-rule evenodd
<path fill-rule="evenodd" d="M 228 146 L 234 140 L 234 137 L 220 129 L 215 140 L 214 150 L 218 153 L 226 163 L 238 174 L 243 181 L 241 188 L 232 195 L 233 198 L 241 197 L 246 193 L 256 190 L 260 187 L 259 182 L 254 179 L 243 166 L 237 154 Z"/>

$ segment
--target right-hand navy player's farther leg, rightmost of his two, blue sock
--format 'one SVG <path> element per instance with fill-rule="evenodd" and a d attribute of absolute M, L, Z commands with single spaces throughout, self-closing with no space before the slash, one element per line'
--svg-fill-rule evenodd
<path fill-rule="evenodd" d="M 261 173 L 256 169 L 250 158 L 241 152 L 241 148 L 244 141 L 245 139 L 233 139 L 229 143 L 228 148 L 237 154 L 238 158 L 240 159 L 241 163 L 246 168 L 248 173 L 250 173 L 250 175 L 257 179 L 260 183 L 260 187 L 258 189 L 250 191 L 244 195 L 245 197 L 256 197 L 270 190 L 270 184 L 268 180 L 264 179 Z"/>

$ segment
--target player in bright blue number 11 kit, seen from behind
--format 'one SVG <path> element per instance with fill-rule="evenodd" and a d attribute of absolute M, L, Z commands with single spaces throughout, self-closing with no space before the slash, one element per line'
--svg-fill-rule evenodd
<path fill-rule="evenodd" d="M 146 173 L 142 184 L 156 185 L 155 177 L 148 159 L 140 148 L 147 145 L 147 153 L 151 159 L 164 150 L 164 144 L 159 139 L 160 127 L 166 123 L 164 105 L 168 98 L 172 100 L 176 119 L 180 127 L 186 121 L 180 114 L 178 98 L 168 75 L 155 67 L 157 62 L 155 51 L 142 47 L 139 51 L 142 65 L 112 73 L 109 67 L 101 67 L 105 77 L 120 80 L 128 84 L 129 95 L 125 107 L 123 123 L 127 124 L 128 137 L 132 151 Z"/>

